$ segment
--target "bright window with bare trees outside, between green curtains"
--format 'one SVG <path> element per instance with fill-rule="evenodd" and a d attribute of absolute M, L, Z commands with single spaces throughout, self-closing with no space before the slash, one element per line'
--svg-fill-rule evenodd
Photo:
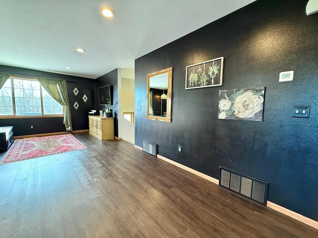
<path fill-rule="evenodd" d="M 56 102 L 36 79 L 10 77 L 0 89 L 0 116 L 63 115 Z"/>

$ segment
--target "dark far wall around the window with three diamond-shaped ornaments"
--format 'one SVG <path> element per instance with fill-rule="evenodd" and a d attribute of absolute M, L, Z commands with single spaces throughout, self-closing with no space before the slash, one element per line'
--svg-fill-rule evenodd
<path fill-rule="evenodd" d="M 67 80 L 69 101 L 72 114 L 73 130 L 88 129 L 88 112 L 95 108 L 95 80 L 90 78 L 76 77 L 65 74 L 50 73 L 38 70 L 31 70 L 18 67 L 0 65 L 0 72 L 7 72 L 15 75 L 28 77 L 47 77 Z M 77 87 L 79 94 L 74 95 L 73 89 Z M 82 100 L 83 95 L 90 94 L 86 103 Z M 73 107 L 75 102 L 79 103 L 78 110 Z M 0 126 L 13 125 L 15 136 L 32 135 L 66 131 L 63 118 L 21 118 L 21 119 L 0 119 Z M 30 128 L 33 125 L 33 129 Z"/>

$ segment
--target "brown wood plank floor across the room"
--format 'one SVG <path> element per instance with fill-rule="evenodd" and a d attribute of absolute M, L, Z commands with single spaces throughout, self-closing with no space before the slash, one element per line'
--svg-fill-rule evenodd
<path fill-rule="evenodd" d="M 0 165 L 1 238 L 318 238 L 128 142 L 74 136 L 87 149 Z"/>

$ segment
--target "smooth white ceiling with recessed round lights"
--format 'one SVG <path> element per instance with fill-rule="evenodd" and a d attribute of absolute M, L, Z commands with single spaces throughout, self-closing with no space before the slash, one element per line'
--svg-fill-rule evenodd
<path fill-rule="evenodd" d="M 253 1 L 0 0 L 0 64 L 95 79 Z"/>

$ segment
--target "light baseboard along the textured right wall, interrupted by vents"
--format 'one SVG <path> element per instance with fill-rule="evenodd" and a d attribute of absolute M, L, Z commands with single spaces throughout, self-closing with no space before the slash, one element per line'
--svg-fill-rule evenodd
<path fill-rule="evenodd" d="M 137 148 L 137 149 L 139 149 L 139 150 L 143 150 L 143 148 L 142 148 L 142 147 L 139 147 L 138 145 L 134 145 L 134 147 Z M 173 160 L 170 160 L 170 159 L 168 159 L 168 158 L 165 158 L 165 157 L 163 157 L 163 156 L 161 156 L 161 155 L 157 155 L 157 158 L 159 158 L 160 160 L 163 160 L 163 161 L 165 161 L 165 162 L 168 162 L 168 163 L 170 163 L 170 164 L 172 164 L 172 165 L 174 165 L 174 166 L 177 166 L 177 167 L 179 167 L 179 168 L 181 168 L 181 169 L 183 169 L 183 170 L 186 170 L 186 171 L 188 171 L 188 172 L 190 172 L 190 173 L 192 173 L 192 174 L 195 174 L 195 175 L 197 175 L 197 176 L 199 176 L 199 177 L 201 177 L 201 178 L 203 178 L 203 179 L 207 179 L 207 180 L 209 180 L 209 181 L 211 181 L 211 182 L 216 183 L 216 184 L 219 185 L 219 179 L 214 179 L 214 178 L 212 178 L 212 177 L 210 177 L 210 176 L 208 176 L 208 175 L 205 175 L 205 174 L 203 174 L 203 173 L 201 173 L 201 172 L 198 172 L 198 171 L 193 170 L 193 169 L 191 169 L 191 168 L 189 168 L 189 167 L 186 167 L 186 166 L 184 166 L 184 165 L 181 165 L 181 164 L 179 164 L 178 162 L 175 162 L 175 161 L 173 161 Z M 270 201 L 267 201 L 267 205 L 266 205 L 266 206 L 267 206 L 268 208 L 274 209 L 274 210 L 277 211 L 277 212 L 280 212 L 280 213 L 282 213 L 282 214 L 284 214 L 284 215 L 286 215 L 286 216 L 288 216 L 288 217 L 291 217 L 291 218 L 293 218 L 293 219 L 295 219 L 295 220 L 297 220 L 297 221 L 300 221 L 300 222 L 302 222 L 302 223 L 305 223 L 306 225 L 311 226 L 311 227 L 313 227 L 313 228 L 315 228 L 315 229 L 318 230 L 318 222 L 315 221 L 315 220 L 313 220 L 313 219 L 310 219 L 310 218 L 308 218 L 308 217 L 305 217 L 305 216 L 303 216 L 303 215 L 301 215 L 301 214 L 299 214 L 299 213 L 297 213 L 297 212 L 293 212 L 293 211 L 291 211 L 291 210 L 288 210 L 287 208 L 282 207 L 282 206 L 279 206 L 279 205 L 277 205 L 277 204 L 275 204 L 275 203 L 273 203 L 273 202 L 270 202 Z"/>

